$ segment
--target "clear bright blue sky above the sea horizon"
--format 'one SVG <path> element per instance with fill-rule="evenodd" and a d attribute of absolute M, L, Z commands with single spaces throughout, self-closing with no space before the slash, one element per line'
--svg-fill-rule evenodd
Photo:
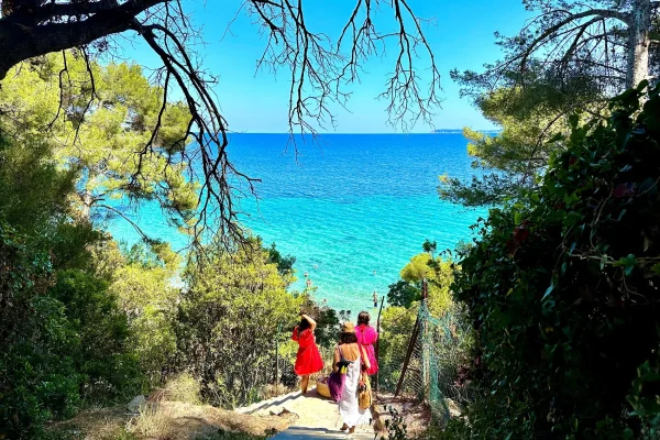
<path fill-rule="evenodd" d="M 216 88 L 230 129 L 250 133 L 286 132 L 288 82 L 283 72 L 277 77 L 267 70 L 255 72 L 256 61 L 265 46 L 252 19 L 242 12 L 237 15 L 239 0 L 187 0 L 186 11 L 201 26 L 207 43 L 197 51 L 205 56 L 204 65 L 219 76 Z M 384 1 L 383 3 L 387 3 Z M 304 0 L 306 20 L 312 30 L 336 38 L 350 16 L 355 0 Z M 435 18 L 437 24 L 426 28 L 426 35 L 436 55 L 441 74 L 442 108 L 436 112 L 437 129 L 494 128 L 466 100 L 459 96 L 459 86 L 451 80 L 453 68 L 479 70 L 484 63 L 501 58 L 494 32 L 510 35 L 528 18 L 521 0 L 409 0 L 418 16 Z M 385 26 L 391 23 L 392 10 L 381 7 Z M 228 24 L 235 20 L 226 32 Z M 376 19 L 376 25 L 378 19 Z M 386 28 L 383 28 L 383 31 Z M 389 51 L 393 52 L 393 51 Z M 153 65 L 154 55 L 138 46 L 125 54 L 141 63 Z M 393 67 L 389 56 L 371 59 L 365 66 L 362 82 L 351 91 L 349 110 L 336 109 L 340 133 L 387 133 L 386 102 L 376 99 L 383 91 L 386 75 Z M 429 132 L 418 124 L 413 132 Z"/>

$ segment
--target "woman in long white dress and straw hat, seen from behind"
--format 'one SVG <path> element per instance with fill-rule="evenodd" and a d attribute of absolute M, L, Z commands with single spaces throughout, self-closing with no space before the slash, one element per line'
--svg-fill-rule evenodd
<path fill-rule="evenodd" d="M 358 385 L 362 369 L 369 370 L 369 356 L 364 350 L 358 344 L 355 336 L 355 326 L 352 322 L 345 322 L 342 327 L 339 337 L 339 345 L 334 349 L 333 370 L 339 370 L 342 361 L 350 361 L 346 366 L 346 377 L 344 388 L 339 399 L 339 415 L 343 420 L 342 431 L 349 430 L 349 433 L 355 432 L 355 427 L 359 425 L 370 425 L 372 415 L 371 410 L 361 409 L 358 403 Z"/>

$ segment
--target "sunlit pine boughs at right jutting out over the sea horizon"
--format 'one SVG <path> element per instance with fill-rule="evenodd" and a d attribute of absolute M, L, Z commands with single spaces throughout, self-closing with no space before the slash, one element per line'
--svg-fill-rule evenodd
<path fill-rule="evenodd" d="M 494 135 L 463 129 L 468 154 L 474 157 L 472 166 L 480 176 L 470 182 L 441 176 L 441 198 L 469 207 L 518 199 L 535 186 L 535 178 L 546 169 L 551 155 L 564 150 L 564 143 L 548 141 L 556 133 L 569 133 L 570 114 L 576 109 L 584 114 L 603 111 L 597 103 L 601 95 L 587 78 L 565 78 L 566 82 L 558 84 L 536 65 L 524 78 L 514 73 L 505 76 L 510 85 L 492 89 L 475 73 L 452 73 L 501 132 Z"/>

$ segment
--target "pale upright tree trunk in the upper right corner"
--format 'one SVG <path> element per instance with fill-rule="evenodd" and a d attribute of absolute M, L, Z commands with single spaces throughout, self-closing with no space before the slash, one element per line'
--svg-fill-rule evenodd
<path fill-rule="evenodd" d="M 636 0 L 628 29 L 628 66 L 626 86 L 637 87 L 649 77 L 649 31 L 651 28 L 651 0 Z"/>

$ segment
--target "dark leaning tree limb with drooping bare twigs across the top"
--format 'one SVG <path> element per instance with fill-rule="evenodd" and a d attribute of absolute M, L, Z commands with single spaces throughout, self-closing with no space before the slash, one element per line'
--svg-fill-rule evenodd
<path fill-rule="evenodd" d="M 89 51 L 106 52 L 113 35 L 135 32 L 163 64 L 155 74 L 163 97 L 148 141 L 135 151 L 135 169 L 124 189 L 131 193 L 141 188 L 147 178 L 144 175 L 147 158 L 165 153 L 164 182 L 169 166 L 186 164 L 190 180 L 201 184 L 197 218 L 189 224 L 191 243 L 241 237 L 234 197 L 254 195 L 254 184 L 258 180 L 235 169 L 228 158 L 228 122 L 213 94 L 217 79 L 202 68 L 193 50 L 201 36 L 190 24 L 180 0 L 1 2 L 0 80 L 22 61 L 78 48 L 87 62 L 91 87 L 89 100 L 76 110 L 78 124 L 92 111 L 97 99 L 94 72 L 89 68 L 89 56 L 94 55 Z M 385 4 L 392 10 L 395 26 L 381 30 L 372 12 Z M 351 96 L 349 87 L 360 81 L 362 65 L 371 56 L 384 55 L 389 42 L 397 47 L 397 57 L 386 90 L 381 95 L 387 100 L 389 121 L 403 129 L 418 121 L 431 122 L 432 110 L 440 103 L 440 75 L 422 26 L 432 21 L 417 18 L 409 0 L 356 0 L 337 41 L 309 28 L 302 0 L 245 0 L 241 9 L 248 11 L 260 32 L 267 36 L 257 68 L 272 72 L 285 68 L 289 73 L 292 133 L 315 134 L 318 128 L 334 127 L 337 106 L 346 105 Z M 66 66 L 61 73 L 61 86 L 65 79 Z M 162 145 L 158 133 L 173 90 L 183 95 L 190 122 L 175 145 Z M 61 110 L 66 111 L 67 103 L 62 101 Z M 55 119 L 58 117 L 59 113 Z M 77 142 L 75 135 L 74 143 Z"/>

